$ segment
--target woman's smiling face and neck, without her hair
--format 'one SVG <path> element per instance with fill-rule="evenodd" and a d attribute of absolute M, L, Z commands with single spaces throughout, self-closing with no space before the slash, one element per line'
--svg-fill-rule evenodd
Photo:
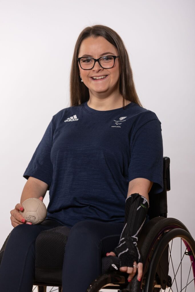
<path fill-rule="evenodd" d="M 113 57 L 106 56 L 108 54 Z M 87 58 L 89 55 L 95 60 Z M 103 36 L 87 37 L 80 45 L 79 74 L 84 85 L 89 89 L 88 105 L 92 108 L 108 110 L 122 106 L 123 98 L 119 91 L 120 61 L 117 56 L 117 48 Z M 93 79 L 94 77 L 97 79 Z"/>

